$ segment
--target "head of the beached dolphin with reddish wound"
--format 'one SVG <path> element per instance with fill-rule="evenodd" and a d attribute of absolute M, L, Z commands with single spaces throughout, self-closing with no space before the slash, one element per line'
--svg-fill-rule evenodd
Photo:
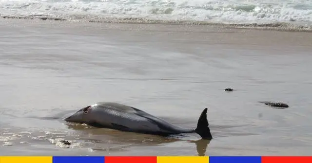
<path fill-rule="evenodd" d="M 79 109 L 77 112 L 75 112 L 73 115 L 65 118 L 64 120 L 66 122 L 74 122 L 74 123 L 87 123 L 89 122 L 90 113 L 92 110 L 92 106 L 87 106 L 85 108 Z"/>

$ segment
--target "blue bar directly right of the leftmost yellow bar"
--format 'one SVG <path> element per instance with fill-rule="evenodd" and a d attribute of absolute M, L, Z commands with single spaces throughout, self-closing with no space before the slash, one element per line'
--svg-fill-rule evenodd
<path fill-rule="evenodd" d="M 104 156 L 53 156 L 53 163 L 104 163 Z"/>

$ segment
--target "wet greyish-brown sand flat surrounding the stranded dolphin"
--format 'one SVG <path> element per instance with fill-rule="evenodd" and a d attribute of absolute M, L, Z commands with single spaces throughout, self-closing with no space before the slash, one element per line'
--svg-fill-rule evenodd
<path fill-rule="evenodd" d="M 0 22 L 1 155 L 311 155 L 310 33 Z M 182 127 L 195 127 L 208 107 L 214 139 L 62 121 L 101 101 Z"/>

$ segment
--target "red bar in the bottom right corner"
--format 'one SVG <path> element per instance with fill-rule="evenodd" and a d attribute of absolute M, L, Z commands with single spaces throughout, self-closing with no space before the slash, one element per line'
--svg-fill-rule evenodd
<path fill-rule="evenodd" d="M 312 163 L 311 156 L 262 156 L 261 163 Z"/>

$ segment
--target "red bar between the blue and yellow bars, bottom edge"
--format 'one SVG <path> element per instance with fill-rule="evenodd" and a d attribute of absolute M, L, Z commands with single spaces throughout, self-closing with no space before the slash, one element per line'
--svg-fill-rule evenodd
<path fill-rule="evenodd" d="M 157 156 L 105 156 L 105 163 L 157 163 Z"/>

